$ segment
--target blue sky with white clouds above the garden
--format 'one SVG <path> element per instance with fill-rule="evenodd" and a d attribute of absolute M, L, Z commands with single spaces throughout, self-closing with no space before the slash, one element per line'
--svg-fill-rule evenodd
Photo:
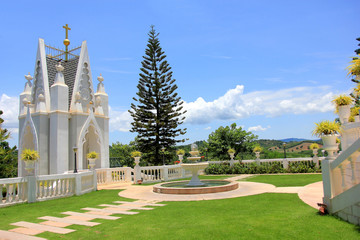
<path fill-rule="evenodd" d="M 259 138 L 313 138 L 330 101 L 354 84 L 345 68 L 360 37 L 360 1 L 5 1 L 0 15 L 0 109 L 17 143 L 18 95 L 33 75 L 38 38 L 88 43 L 111 107 L 110 143 L 128 143 L 150 25 L 188 109 L 188 142 L 235 122 Z M 94 82 L 94 84 L 97 84 Z"/>

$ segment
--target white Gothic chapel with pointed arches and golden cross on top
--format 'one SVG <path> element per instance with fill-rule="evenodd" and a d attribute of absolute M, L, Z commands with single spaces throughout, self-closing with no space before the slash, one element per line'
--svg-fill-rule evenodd
<path fill-rule="evenodd" d="M 109 167 L 109 107 L 103 80 L 93 87 L 86 41 L 65 51 L 39 39 L 34 76 L 25 76 L 20 94 L 18 176 L 25 176 L 21 152 L 35 149 L 36 175 L 88 169 L 86 154 L 99 153 L 95 168 Z"/>

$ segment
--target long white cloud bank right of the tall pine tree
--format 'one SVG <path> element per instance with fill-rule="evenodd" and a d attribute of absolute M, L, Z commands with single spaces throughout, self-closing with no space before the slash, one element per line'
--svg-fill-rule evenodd
<path fill-rule="evenodd" d="M 253 115 L 266 117 L 284 114 L 307 114 L 334 110 L 334 94 L 328 87 L 296 87 L 275 91 L 255 91 L 244 94 L 237 85 L 212 102 L 199 97 L 184 102 L 186 123 L 205 124 L 213 120 L 236 120 Z"/>

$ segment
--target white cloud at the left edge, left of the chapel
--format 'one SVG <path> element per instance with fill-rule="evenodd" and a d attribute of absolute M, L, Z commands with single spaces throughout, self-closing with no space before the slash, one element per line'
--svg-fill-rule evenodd
<path fill-rule="evenodd" d="M 2 94 L 0 98 L 0 110 L 3 111 L 1 118 L 4 119 L 5 128 L 18 127 L 19 99 Z"/>

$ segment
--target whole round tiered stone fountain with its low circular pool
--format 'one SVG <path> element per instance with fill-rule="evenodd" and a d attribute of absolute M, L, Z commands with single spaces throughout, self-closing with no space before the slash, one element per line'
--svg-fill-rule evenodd
<path fill-rule="evenodd" d="M 192 161 L 192 163 L 182 163 L 181 167 L 185 171 L 191 172 L 191 180 L 157 184 L 153 187 L 153 192 L 164 194 L 204 194 L 231 191 L 238 188 L 239 184 L 237 182 L 227 180 L 200 181 L 199 171 L 204 170 L 209 163 L 196 162 L 201 158 L 199 157 L 196 144 L 191 145 L 190 154 L 191 157 L 188 157 L 187 160 Z"/>

